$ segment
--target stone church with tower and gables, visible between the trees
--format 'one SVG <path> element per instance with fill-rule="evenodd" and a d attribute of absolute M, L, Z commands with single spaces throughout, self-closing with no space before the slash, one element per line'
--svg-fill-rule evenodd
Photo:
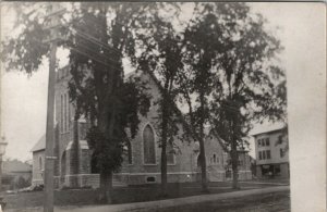
<path fill-rule="evenodd" d="M 133 77 L 136 73 L 129 74 Z M 114 174 L 113 186 L 156 184 L 160 183 L 160 154 L 158 137 L 155 129 L 157 117 L 157 98 L 160 89 L 155 76 L 137 72 L 142 80 L 150 88 L 152 105 L 146 117 L 141 117 L 141 124 L 135 138 L 126 147 L 126 154 L 119 173 Z M 99 174 L 92 160 L 85 135 L 87 122 L 78 121 L 78 146 L 73 145 L 74 108 L 70 103 L 68 82 L 69 67 L 57 72 L 56 83 L 56 144 L 55 183 L 61 187 L 98 187 Z M 181 127 L 180 127 L 181 128 Z M 182 130 L 182 129 L 180 129 Z M 33 184 L 44 182 L 45 136 L 33 148 Z M 207 136 L 205 140 L 208 182 L 223 182 L 231 179 L 229 154 L 223 144 L 215 136 Z M 168 147 L 168 182 L 201 182 L 198 165 L 199 147 L 197 142 L 182 141 L 175 138 L 173 147 Z M 239 151 L 239 178 L 251 179 L 251 163 L 247 151 Z"/>

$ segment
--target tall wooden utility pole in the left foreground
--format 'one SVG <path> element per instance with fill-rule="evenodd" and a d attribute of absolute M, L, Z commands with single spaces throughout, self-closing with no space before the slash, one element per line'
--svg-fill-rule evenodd
<path fill-rule="evenodd" d="M 49 83 L 48 83 L 48 109 L 47 109 L 47 132 L 46 132 L 46 160 L 45 160 L 45 201 L 44 211 L 53 212 L 53 155 L 55 147 L 55 84 L 56 84 L 56 52 L 59 33 L 57 30 L 60 25 L 59 15 L 64 10 L 59 9 L 58 3 L 50 3 L 50 13 L 46 17 L 46 28 L 50 30 L 50 36 L 44 42 L 50 45 L 49 58 Z"/>

